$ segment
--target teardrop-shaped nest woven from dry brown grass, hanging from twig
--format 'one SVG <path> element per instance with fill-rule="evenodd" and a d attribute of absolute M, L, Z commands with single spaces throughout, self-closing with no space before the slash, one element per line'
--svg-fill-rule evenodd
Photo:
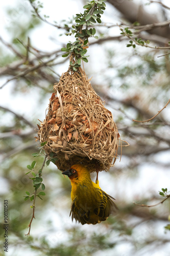
<path fill-rule="evenodd" d="M 81 68 L 68 71 L 54 84 L 48 114 L 38 125 L 38 139 L 47 141 L 58 169 L 81 163 L 90 172 L 109 170 L 117 158 L 119 133 L 112 113 L 104 108 Z"/>

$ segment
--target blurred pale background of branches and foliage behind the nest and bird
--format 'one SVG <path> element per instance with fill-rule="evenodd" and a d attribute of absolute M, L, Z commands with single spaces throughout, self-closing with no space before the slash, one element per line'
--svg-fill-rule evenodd
<path fill-rule="evenodd" d="M 116 25 L 132 23 L 121 11 L 122 4 L 127 5 L 127 13 L 130 4 L 134 8 L 141 4 L 143 15 L 156 16 L 156 22 L 169 19 L 168 8 L 145 6 L 148 1 L 108 1 L 103 23 L 96 26 L 99 39 L 90 40 L 89 62 L 84 63 L 89 78 L 93 76 L 92 86 L 113 113 L 121 138 L 130 143 L 123 148 L 121 162 L 117 160 L 110 173 L 99 174 L 101 188 L 116 198 L 118 215 L 94 226 L 72 223 L 70 181 L 50 163 L 42 174 L 46 196 L 37 198 L 31 236 L 25 236 L 32 203 L 24 201 L 24 196 L 25 191 L 33 193 L 26 166 L 36 160 L 38 170 L 43 162 L 43 157 L 31 156 L 38 152 L 34 129 L 37 119 L 45 118 L 54 82 L 68 69 L 69 60 L 61 57 L 60 48 L 73 39 L 65 33 L 73 15 L 82 12 L 86 4 L 81 0 L 63 2 L 51 0 L 47 5 L 30 0 L 2 6 L 6 19 L 0 37 L 0 192 L 2 226 L 4 200 L 9 205 L 10 244 L 6 254 L 167 256 L 169 200 L 151 208 L 133 202 L 158 203 L 162 200 L 158 191 L 169 189 L 169 105 L 150 122 L 132 119 L 151 118 L 168 101 L 170 55 L 158 58 L 167 53 L 164 49 L 126 48 L 129 39 L 120 35 Z M 140 25 L 145 24 L 140 21 Z M 151 44 L 162 47 L 164 40 L 163 47 L 167 47 L 169 34 L 160 36 L 158 32 Z M 140 37 L 150 39 L 151 34 L 143 31 Z M 0 232 L 3 244 L 4 230 Z"/>

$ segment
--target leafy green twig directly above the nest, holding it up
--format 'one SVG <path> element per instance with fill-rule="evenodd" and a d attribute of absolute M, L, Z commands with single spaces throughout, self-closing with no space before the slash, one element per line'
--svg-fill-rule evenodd
<path fill-rule="evenodd" d="M 76 68 L 80 67 L 81 60 L 88 62 L 87 57 L 84 54 L 87 53 L 89 37 L 94 37 L 98 39 L 98 36 L 95 36 L 96 29 L 90 28 L 89 26 L 94 26 L 96 23 L 101 23 L 101 14 L 103 14 L 103 10 L 105 10 L 105 1 L 93 0 L 87 5 L 83 6 L 84 12 L 76 14 L 75 22 L 76 25 L 72 26 L 72 30 L 70 33 L 66 33 L 66 35 L 75 35 L 76 40 L 74 42 L 69 41 L 66 48 L 61 48 L 61 51 L 66 52 L 62 55 L 62 57 L 67 57 L 69 55 L 73 55 L 75 61 L 70 61 L 70 67 L 77 71 Z M 84 27 L 84 29 L 83 29 Z"/>

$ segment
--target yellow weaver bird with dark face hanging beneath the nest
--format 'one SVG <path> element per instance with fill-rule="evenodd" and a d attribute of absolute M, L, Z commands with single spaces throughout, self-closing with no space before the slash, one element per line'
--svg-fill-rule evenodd
<path fill-rule="evenodd" d="M 69 170 L 62 172 L 71 181 L 71 211 L 72 220 L 84 224 L 97 224 L 105 221 L 110 214 L 117 210 L 113 197 L 106 194 L 91 180 L 89 170 L 81 164 L 73 165 Z"/>

